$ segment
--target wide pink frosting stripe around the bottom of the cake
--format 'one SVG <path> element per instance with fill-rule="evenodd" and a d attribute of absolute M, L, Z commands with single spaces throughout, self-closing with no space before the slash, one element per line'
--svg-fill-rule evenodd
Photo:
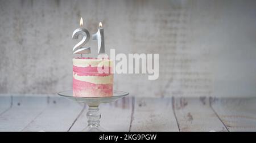
<path fill-rule="evenodd" d="M 112 96 L 113 84 L 93 84 L 73 78 L 73 96 L 99 97 Z"/>

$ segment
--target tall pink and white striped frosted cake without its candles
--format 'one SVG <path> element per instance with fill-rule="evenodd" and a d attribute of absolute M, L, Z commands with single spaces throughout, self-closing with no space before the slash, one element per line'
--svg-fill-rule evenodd
<path fill-rule="evenodd" d="M 73 96 L 113 96 L 112 65 L 110 59 L 73 58 Z"/>

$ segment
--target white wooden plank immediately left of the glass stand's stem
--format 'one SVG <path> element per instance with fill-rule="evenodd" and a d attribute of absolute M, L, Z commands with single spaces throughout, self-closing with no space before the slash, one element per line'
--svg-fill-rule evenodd
<path fill-rule="evenodd" d="M 23 131 L 68 131 L 84 105 L 64 97 L 52 96 L 47 108 Z"/>

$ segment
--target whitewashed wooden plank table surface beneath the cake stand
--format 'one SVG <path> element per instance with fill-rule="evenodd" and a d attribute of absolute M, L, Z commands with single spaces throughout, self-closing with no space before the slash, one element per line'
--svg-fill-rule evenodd
<path fill-rule="evenodd" d="M 0 96 L 0 131 L 81 131 L 84 104 L 57 95 Z M 107 131 L 256 131 L 256 98 L 136 98 L 100 105 Z"/>

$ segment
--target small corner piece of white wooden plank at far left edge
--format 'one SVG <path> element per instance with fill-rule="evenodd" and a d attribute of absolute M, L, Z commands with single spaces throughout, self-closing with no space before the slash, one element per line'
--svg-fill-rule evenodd
<path fill-rule="evenodd" d="M 0 115 L 11 108 L 12 99 L 11 95 L 0 95 Z"/>

